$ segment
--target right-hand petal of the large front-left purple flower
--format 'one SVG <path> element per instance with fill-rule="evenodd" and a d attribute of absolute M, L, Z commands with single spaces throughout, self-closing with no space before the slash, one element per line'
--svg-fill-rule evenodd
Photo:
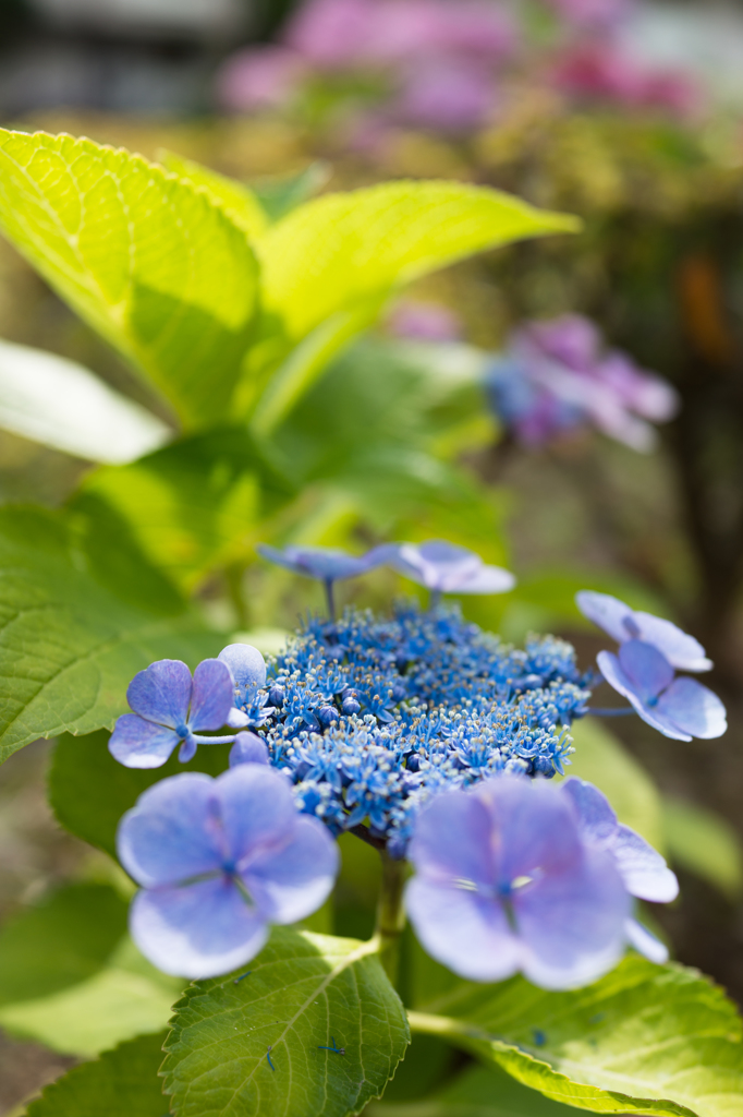
<path fill-rule="evenodd" d="M 271 923 L 296 923 L 326 901 L 337 872 L 338 847 L 327 828 L 301 815 L 290 841 L 251 859 L 242 879 Z"/>

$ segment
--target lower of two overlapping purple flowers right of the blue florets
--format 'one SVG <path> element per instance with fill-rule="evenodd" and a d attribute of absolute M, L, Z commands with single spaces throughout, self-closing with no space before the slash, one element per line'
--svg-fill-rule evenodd
<path fill-rule="evenodd" d="M 725 707 L 717 695 L 696 679 L 675 678 L 673 667 L 653 645 L 628 640 L 618 657 L 600 651 L 596 659 L 609 686 L 664 736 L 708 739 L 722 736 L 727 728 Z"/>

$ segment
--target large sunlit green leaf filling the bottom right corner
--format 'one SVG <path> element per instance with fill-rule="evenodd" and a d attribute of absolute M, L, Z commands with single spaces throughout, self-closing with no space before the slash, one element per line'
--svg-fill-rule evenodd
<path fill-rule="evenodd" d="M 741 1020 L 721 989 L 683 966 L 630 955 L 567 993 L 521 977 L 462 983 L 409 1021 L 579 1109 L 743 1115 Z"/>

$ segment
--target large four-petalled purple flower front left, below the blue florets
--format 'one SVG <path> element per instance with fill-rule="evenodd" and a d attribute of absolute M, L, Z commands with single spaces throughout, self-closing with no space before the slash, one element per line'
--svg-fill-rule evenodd
<path fill-rule="evenodd" d="M 192 978 L 243 965 L 270 924 L 315 911 L 338 868 L 322 823 L 298 814 L 283 776 L 259 764 L 149 787 L 122 819 L 117 850 L 142 886 L 132 937 L 160 970 Z"/>

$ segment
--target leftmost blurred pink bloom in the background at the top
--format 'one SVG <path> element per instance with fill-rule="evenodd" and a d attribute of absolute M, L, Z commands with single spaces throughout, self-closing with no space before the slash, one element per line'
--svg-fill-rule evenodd
<path fill-rule="evenodd" d="M 305 63 L 287 47 L 250 47 L 228 58 L 216 78 L 216 95 L 234 111 L 279 107 L 293 96 L 305 74 Z"/>

